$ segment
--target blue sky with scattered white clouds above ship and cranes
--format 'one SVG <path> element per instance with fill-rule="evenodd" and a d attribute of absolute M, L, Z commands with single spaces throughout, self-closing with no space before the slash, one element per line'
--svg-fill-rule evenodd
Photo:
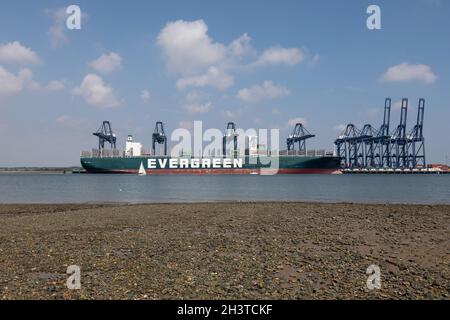
<path fill-rule="evenodd" d="M 369 30 L 369 5 L 381 29 Z M 78 5 L 81 29 L 66 8 Z M 428 163 L 450 155 L 450 1 L 0 0 L 0 166 L 79 165 L 112 123 L 150 150 L 167 133 L 296 122 L 333 149 L 347 123 L 391 128 L 426 99 Z"/>

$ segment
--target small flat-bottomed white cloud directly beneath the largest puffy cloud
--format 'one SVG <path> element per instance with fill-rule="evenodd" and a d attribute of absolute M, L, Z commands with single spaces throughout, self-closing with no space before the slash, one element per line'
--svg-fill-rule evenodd
<path fill-rule="evenodd" d="M 210 86 L 216 89 L 224 90 L 232 86 L 233 83 L 234 79 L 232 76 L 229 76 L 219 68 L 210 67 L 208 71 L 203 75 L 179 79 L 177 81 L 177 87 L 178 89 L 184 89 L 189 86 L 193 87 Z"/>

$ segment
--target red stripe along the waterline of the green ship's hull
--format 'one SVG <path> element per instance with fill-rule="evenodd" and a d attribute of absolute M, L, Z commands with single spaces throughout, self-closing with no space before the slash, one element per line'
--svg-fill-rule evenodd
<path fill-rule="evenodd" d="M 138 174 L 138 170 L 105 170 L 104 173 L 124 173 L 124 174 Z M 246 175 L 246 174 L 261 174 L 259 169 L 147 169 L 147 174 L 155 175 Z M 269 173 L 269 172 L 268 172 Z M 271 171 L 272 174 L 333 174 L 340 173 L 336 169 L 319 169 L 319 168 L 299 168 L 299 169 L 278 169 L 278 171 Z"/>

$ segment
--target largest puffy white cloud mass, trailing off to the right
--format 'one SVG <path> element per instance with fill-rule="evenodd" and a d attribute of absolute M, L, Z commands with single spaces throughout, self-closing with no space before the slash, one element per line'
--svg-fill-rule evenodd
<path fill-rule="evenodd" d="M 225 90 L 233 85 L 236 70 L 277 64 L 293 66 L 306 56 L 306 49 L 281 46 L 273 46 L 258 56 L 251 41 L 244 33 L 231 43 L 223 44 L 208 34 L 208 26 L 203 20 L 177 20 L 168 22 L 161 29 L 156 44 L 168 70 L 179 77 L 178 89 L 212 87 Z"/>

